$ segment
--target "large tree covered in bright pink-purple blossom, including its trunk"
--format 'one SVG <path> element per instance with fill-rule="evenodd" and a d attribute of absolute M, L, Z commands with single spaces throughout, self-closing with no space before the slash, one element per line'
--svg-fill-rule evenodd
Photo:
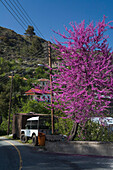
<path fill-rule="evenodd" d="M 53 81 L 55 92 L 53 105 L 73 121 L 70 140 L 77 132 L 78 123 L 85 122 L 94 116 L 103 117 L 107 114 L 113 98 L 113 52 L 104 35 L 113 27 L 105 22 L 105 17 L 96 26 L 91 22 L 85 27 L 71 23 L 65 27 L 67 34 L 57 32 L 65 42 L 56 39 L 59 65 Z M 55 32 L 56 33 L 56 32 Z"/>

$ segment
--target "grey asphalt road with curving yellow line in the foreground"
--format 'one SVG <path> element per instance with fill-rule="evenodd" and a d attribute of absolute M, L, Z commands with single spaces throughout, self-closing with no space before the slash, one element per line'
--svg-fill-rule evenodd
<path fill-rule="evenodd" d="M 0 170 L 113 170 L 113 158 L 56 154 L 0 137 Z"/>

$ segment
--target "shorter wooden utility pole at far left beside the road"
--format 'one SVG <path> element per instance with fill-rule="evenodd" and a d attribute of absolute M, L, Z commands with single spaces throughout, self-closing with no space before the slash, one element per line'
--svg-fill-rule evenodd
<path fill-rule="evenodd" d="M 8 130 L 7 130 L 8 135 L 10 133 L 10 115 L 11 115 L 11 105 L 12 105 L 13 76 L 14 76 L 14 72 L 12 72 L 12 77 L 11 77 L 11 88 L 10 88 L 10 98 L 9 98 Z"/>

